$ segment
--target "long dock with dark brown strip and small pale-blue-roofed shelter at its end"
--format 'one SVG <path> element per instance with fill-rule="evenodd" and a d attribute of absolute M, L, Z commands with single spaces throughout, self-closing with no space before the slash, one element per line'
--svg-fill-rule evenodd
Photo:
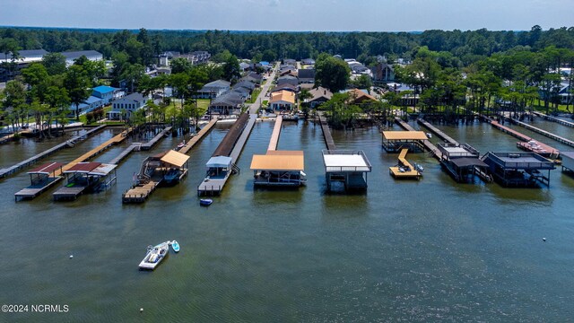
<path fill-rule="evenodd" d="M 227 183 L 231 173 L 239 172 L 235 162 L 248 140 L 248 136 L 257 120 L 256 114 L 243 113 L 223 137 L 212 158 L 205 164 L 205 179 L 197 186 L 197 195 L 218 195 Z"/>

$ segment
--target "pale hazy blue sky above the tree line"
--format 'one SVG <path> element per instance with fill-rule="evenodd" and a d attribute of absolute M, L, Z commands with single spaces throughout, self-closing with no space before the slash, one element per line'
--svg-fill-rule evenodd
<path fill-rule="evenodd" d="M 529 31 L 573 0 L 0 0 L 0 25 L 231 31 Z"/>

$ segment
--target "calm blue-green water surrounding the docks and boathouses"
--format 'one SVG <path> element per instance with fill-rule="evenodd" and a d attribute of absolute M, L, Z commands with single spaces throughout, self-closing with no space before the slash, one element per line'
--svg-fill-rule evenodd
<path fill-rule="evenodd" d="M 321 129 L 301 121 L 283 124 L 279 149 L 305 151 L 308 186 L 254 189 L 251 156 L 265 153 L 273 127 L 256 124 L 239 158 L 241 172 L 208 208 L 198 205 L 196 187 L 229 125 L 214 128 L 190 152 L 187 179 L 156 190 L 143 205 L 122 205 L 122 192 L 147 155 L 180 138 L 132 154 L 117 168 L 115 187 L 71 203 L 52 202 L 51 190 L 15 204 L 13 193 L 29 179 L 22 172 L 0 180 L 0 300 L 70 309 L 0 314 L 0 321 L 574 318 L 574 179 L 560 170 L 552 170 L 550 188 L 463 185 L 426 153 L 410 153 L 424 177 L 396 181 L 388 175 L 396 154 L 382 150 L 377 129 L 364 128 L 333 135 L 337 148 L 367 153 L 368 192 L 326 194 Z M 517 151 L 515 138 L 488 124 L 438 127 L 482 153 Z M 113 134 L 106 130 L 49 159 L 69 162 Z M 128 144 L 94 160 L 109 162 Z M 45 148 L 2 145 L 0 165 Z M 178 254 L 154 272 L 138 271 L 147 245 L 173 239 Z"/>

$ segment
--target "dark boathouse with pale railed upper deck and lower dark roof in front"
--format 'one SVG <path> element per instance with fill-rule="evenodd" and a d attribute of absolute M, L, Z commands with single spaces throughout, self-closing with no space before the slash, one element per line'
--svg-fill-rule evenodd
<path fill-rule="evenodd" d="M 440 164 L 457 182 L 472 182 L 474 176 L 490 182 L 486 175 L 488 165 L 480 159 L 480 153 L 469 144 L 439 144 Z"/>

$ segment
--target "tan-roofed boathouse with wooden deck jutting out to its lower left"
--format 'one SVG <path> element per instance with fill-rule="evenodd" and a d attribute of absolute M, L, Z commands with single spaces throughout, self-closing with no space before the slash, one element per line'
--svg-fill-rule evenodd
<path fill-rule="evenodd" d="M 160 185 L 178 183 L 187 175 L 189 156 L 170 150 L 146 158 L 135 184 L 122 194 L 123 203 L 143 203 Z"/>

